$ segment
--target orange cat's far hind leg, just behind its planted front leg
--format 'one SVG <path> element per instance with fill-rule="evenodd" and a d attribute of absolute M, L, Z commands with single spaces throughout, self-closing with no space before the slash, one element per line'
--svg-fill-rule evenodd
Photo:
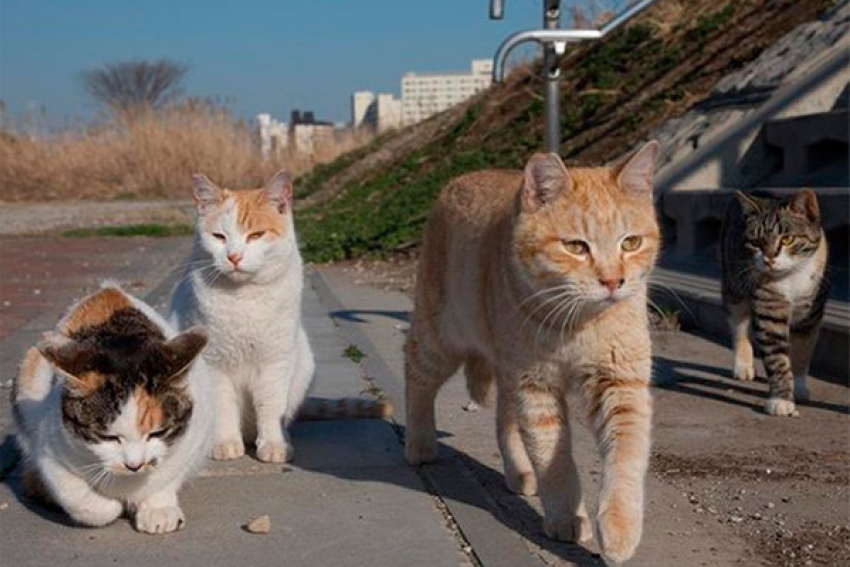
<path fill-rule="evenodd" d="M 519 432 L 516 399 L 514 394 L 502 392 L 496 398 L 496 438 L 505 467 L 505 483 L 517 494 L 530 496 L 537 493 L 537 479 L 525 452 Z"/>

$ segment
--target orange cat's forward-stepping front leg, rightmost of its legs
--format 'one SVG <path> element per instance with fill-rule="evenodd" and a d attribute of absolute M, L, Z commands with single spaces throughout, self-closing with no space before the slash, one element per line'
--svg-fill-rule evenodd
<path fill-rule="evenodd" d="M 644 477 L 649 463 L 652 398 L 649 361 L 643 376 L 600 375 L 585 384 L 590 417 L 602 453 L 597 522 L 603 553 L 630 558 L 643 531 Z"/>

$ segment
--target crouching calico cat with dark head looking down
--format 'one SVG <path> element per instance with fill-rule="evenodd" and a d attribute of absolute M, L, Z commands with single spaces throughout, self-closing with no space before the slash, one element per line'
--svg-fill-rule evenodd
<path fill-rule="evenodd" d="M 28 494 L 88 526 L 126 508 L 141 532 L 181 528 L 177 492 L 211 441 L 206 341 L 116 286 L 73 305 L 15 379 Z"/>

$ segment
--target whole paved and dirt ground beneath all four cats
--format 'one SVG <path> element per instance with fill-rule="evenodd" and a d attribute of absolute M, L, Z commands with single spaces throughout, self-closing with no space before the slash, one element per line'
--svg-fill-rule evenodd
<path fill-rule="evenodd" d="M 0 241 L 0 314 L 11 323 L 0 341 L 2 385 L 67 302 L 103 277 L 132 283 L 133 292 L 163 310 L 188 247 L 188 239 Z M 40 303 L 33 305 L 36 280 Z M 251 457 L 208 462 L 181 494 L 186 528 L 148 536 L 126 519 L 101 529 L 72 527 L 63 515 L 23 501 L 8 390 L 0 392 L 0 563 L 604 565 L 595 542 L 582 547 L 544 537 L 538 499 L 507 491 L 493 410 L 467 411 L 462 380 L 446 384 L 437 401 L 440 459 L 419 468 L 404 463 L 401 345 L 409 297 L 321 267 L 311 272 L 303 309 L 317 358 L 313 395 L 366 395 L 377 386 L 395 404 L 393 420 L 298 423 L 295 461 L 287 466 Z M 343 356 L 350 344 L 365 353 L 362 364 Z M 656 335 L 654 351 L 646 524 L 628 564 L 829 565 L 836 564 L 829 558 L 843 558 L 850 539 L 847 389 L 812 379 L 813 401 L 800 418 L 771 418 L 761 411 L 766 385 L 731 380 L 725 347 L 672 332 Z M 574 451 L 593 513 L 600 467 L 575 402 Z M 263 514 L 271 517 L 271 533 L 245 531 Z"/>

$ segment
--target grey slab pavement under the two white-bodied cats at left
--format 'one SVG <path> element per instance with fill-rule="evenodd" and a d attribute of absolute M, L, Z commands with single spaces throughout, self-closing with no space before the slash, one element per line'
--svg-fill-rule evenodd
<path fill-rule="evenodd" d="M 121 256 L 126 240 L 100 241 L 97 269 L 88 274 L 90 285 L 103 277 L 122 277 L 106 269 L 109 249 L 113 260 Z M 71 245 L 79 245 L 72 241 Z M 87 241 L 93 246 L 95 241 Z M 158 245 L 162 245 L 159 243 Z M 185 254 L 187 242 L 168 243 L 175 256 Z M 67 248 L 62 240 L 30 239 L 37 253 Z M 4 272 L 19 268 L 20 258 L 0 250 Z M 138 289 L 146 299 L 164 307 L 174 282 L 171 270 L 159 270 L 164 259 L 137 254 L 134 264 L 150 276 Z M 60 255 L 57 255 L 57 257 Z M 173 258 L 172 258 L 173 259 Z M 17 263 L 16 263 L 17 262 Z M 116 260 L 123 264 L 123 259 Z M 168 264 L 174 266 L 170 261 Z M 80 282 L 64 279 L 74 262 L 51 266 L 57 288 Z M 63 283 L 64 282 L 64 283 Z M 7 286 L 25 286 L 25 281 Z M 49 285 L 49 282 L 45 282 Z M 4 286 L 6 287 L 6 286 Z M 138 293 L 138 289 L 133 290 Z M 80 295 L 83 289 L 64 289 Z M 4 294 L 25 293 L 4 289 Z M 62 295 L 57 290 L 57 296 Z M 145 295 L 145 294 L 141 294 Z M 43 330 L 50 328 L 64 304 L 45 306 L 43 313 L 12 333 L 0 344 L 3 377 L 14 374 L 14 365 Z M 316 353 L 317 379 L 313 395 L 361 396 L 368 384 L 361 368 L 343 356 L 347 340 L 328 317 L 312 288 L 305 290 L 304 317 Z M 7 390 L 8 393 L 8 390 Z M 3 396 L 4 398 L 6 395 Z M 5 402 L 5 399 L 4 399 Z M 60 513 L 24 501 L 20 496 L 20 467 L 12 468 L 8 404 L 3 408 L 4 481 L 0 485 L 0 553 L 3 565 L 463 565 L 469 564 L 446 517 L 417 471 L 404 463 L 402 447 L 393 425 L 381 420 L 348 420 L 298 423 L 292 438 L 296 457 L 292 465 L 269 465 L 246 457 L 236 462 L 209 462 L 202 473 L 184 487 L 181 501 L 187 525 L 165 536 L 136 533 L 126 519 L 101 529 L 69 526 Z M 268 535 L 250 534 L 244 525 L 268 514 Z"/>

